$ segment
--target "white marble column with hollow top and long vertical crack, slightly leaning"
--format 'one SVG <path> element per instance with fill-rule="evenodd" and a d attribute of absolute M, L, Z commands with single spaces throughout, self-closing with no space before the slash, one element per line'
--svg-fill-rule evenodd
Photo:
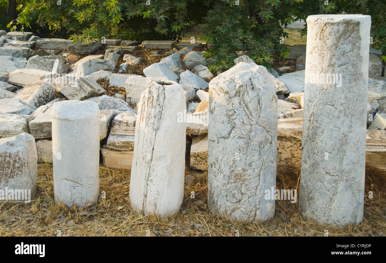
<path fill-rule="evenodd" d="M 174 81 L 153 81 L 142 92 L 135 125 L 130 205 L 143 214 L 167 217 L 184 197 L 185 95 Z"/>

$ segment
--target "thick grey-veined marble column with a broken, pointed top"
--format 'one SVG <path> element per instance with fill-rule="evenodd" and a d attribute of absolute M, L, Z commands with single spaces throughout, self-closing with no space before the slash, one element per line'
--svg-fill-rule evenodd
<path fill-rule="evenodd" d="M 265 67 L 240 62 L 209 83 L 208 207 L 231 219 L 266 221 L 275 200 L 277 97 Z"/>

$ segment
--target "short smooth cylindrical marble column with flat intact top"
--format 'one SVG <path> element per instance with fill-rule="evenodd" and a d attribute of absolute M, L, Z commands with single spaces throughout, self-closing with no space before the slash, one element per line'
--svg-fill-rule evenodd
<path fill-rule="evenodd" d="M 51 114 L 55 202 L 94 205 L 99 196 L 98 104 L 56 102 Z"/>

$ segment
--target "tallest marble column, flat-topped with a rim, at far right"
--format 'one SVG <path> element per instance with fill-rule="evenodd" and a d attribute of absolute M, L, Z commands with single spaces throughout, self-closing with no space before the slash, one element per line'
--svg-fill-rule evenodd
<path fill-rule="evenodd" d="M 346 226 L 363 217 L 368 15 L 311 15 L 301 153 L 300 208 Z"/>

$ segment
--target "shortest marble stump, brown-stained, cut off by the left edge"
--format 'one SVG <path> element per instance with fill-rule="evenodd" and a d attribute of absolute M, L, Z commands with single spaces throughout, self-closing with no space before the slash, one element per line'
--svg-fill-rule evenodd
<path fill-rule="evenodd" d="M 36 182 L 37 154 L 34 137 L 22 133 L 0 139 L 0 189 L 4 192 L 6 188 L 17 191 L 15 195 L 8 191 L 1 201 L 34 200 L 37 193 Z M 11 198 L 8 194 L 11 194 Z"/>

